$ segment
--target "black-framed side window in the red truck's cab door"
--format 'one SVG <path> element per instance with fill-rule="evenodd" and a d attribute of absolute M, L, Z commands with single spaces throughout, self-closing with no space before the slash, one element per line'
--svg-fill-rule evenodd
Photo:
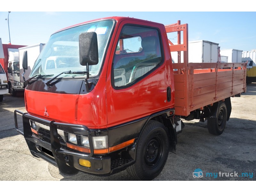
<path fill-rule="evenodd" d="M 112 67 L 115 87 L 139 81 L 162 62 L 158 30 L 126 25 L 116 46 Z"/>

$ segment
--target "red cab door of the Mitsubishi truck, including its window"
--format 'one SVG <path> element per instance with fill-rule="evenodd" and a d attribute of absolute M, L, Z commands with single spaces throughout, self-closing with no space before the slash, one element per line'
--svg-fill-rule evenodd
<path fill-rule="evenodd" d="M 108 127 L 141 127 L 150 115 L 171 108 L 171 61 L 160 28 L 140 20 L 120 23 L 107 71 Z"/>

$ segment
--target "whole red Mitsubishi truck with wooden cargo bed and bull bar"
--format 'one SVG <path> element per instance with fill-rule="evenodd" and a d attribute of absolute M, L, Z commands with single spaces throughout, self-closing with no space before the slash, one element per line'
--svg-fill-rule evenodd
<path fill-rule="evenodd" d="M 245 80 L 245 63 L 188 63 L 188 24 L 92 20 L 52 34 L 26 79 L 27 113 L 14 111 L 15 127 L 33 156 L 65 174 L 127 169 L 152 180 L 175 152 L 181 119 L 207 120 L 220 135 Z"/>

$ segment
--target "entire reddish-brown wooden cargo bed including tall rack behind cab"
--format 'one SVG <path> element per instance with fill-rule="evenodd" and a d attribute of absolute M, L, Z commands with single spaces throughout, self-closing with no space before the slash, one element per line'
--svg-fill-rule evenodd
<path fill-rule="evenodd" d="M 176 115 L 188 116 L 191 111 L 246 91 L 246 63 L 188 63 L 188 24 L 178 20 L 165 25 L 165 30 L 167 34 L 177 33 L 177 43 L 168 39 L 171 55 L 177 52 L 178 56 L 178 63 L 172 64 Z"/>

